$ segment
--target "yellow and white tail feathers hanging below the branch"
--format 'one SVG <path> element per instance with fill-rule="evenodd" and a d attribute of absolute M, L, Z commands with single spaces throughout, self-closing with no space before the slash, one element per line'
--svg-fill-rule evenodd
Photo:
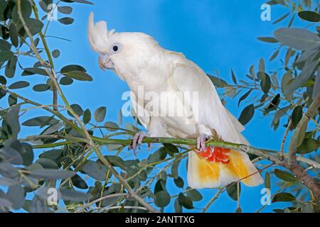
<path fill-rule="evenodd" d="M 241 179 L 247 186 L 262 184 L 263 180 L 246 153 L 230 150 L 230 162 L 209 162 L 196 152 L 188 157 L 188 184 L 195 189 L 221 187 Z"/>

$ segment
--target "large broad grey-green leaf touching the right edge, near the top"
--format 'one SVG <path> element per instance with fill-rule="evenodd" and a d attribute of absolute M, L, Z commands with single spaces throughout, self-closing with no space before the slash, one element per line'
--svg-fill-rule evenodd
<path fill-rule="evenodd" d="M 318 35 L 303 28 L 279 28 L 274 31 L 274 36 L 282 45 L 298 50 L 309 50 L 319 48 Z"/>

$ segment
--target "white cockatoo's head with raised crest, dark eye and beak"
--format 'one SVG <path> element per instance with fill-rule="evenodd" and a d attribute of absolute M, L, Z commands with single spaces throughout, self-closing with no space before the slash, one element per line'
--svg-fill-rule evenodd
<path fill-rule="evenodd" d="M 92 50 L 100 54 L 98 62 L 102 70 L 113 69 L 117 74 L 144 67 L 156 41 L 144 33 L 115 33 L 107 30 L 107 22 L 94 23 L 93 13 L 88 22 L 88 38 Z"/>

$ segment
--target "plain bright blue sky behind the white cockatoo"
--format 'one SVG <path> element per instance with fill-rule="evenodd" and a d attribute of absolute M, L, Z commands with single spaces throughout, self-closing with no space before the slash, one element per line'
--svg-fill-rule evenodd
<path fill-rule="evenodd" d="M 265 1 L 257 0 L 229 0 L 229 1 L 189 1 L 189 0 L 100 0 L 93 1 L 94 6 L 73 4 L 75 22 L 71 26 L 63 26 L 57 21 L 50 23 L 48 35 L 68 38 L 71 42 L 48 38 L 50 50 L 59 48 L 61 55 L 55 60 L 55 68 L 70 64 L 82 65 L 94 78 L 93 82 L 75 82 L 72 86 L 63 87 L 68 101 L 78 103 L 82 109 L 94 111 L 97 107 L 107 106 L 107 120 L 116 121 L 119 109 L 124 101 L 123 92 L 129 90 L 127 84 L 120 80 L 114 72 L 102 72 L 97 65 L 97 54 L 93 52 L 87 41 L 87 17 L 90 11 L 95 12 L 95 20 L 105 20 L 108 28 L 116 31 L 139 31 L 153 36 L 159 44 L 169 50 L 183 52 L 189 60 L 196 62 L 205 72 L 215 74 L 218 70 L 220 77 L 231 82 L 230 69 L 238 78 L 245 78 L 250 65 L 257 65 L 260 57 L 266 60 L 267 69 L 276 70 L 278 63 L 267 60 L 277 45 L 262 43 L 258 36 L 272 36 L 279 26 L 287 23 L 272 25 L 272 21 L 284 14 L 284 9 L 272 6 L 272 21 L 260 20 L 260 6 Z M 243 4 L 245 2 L 245 4 Z M 58 18 L 63 17 L 58 14 Z M 23 61 L 21 65 L 30 65 L 30 61 Z M 18 76 L 16 79 L 21 79 Z M 25 79 L 25 78 L 23 78 Z M 32 79 L 34 82 L 44 82 L 44 79 Z M 51 94 L 28 92 L 21 90 L 21 94 L 38 102 L 50 103 Z M 228 102 L 228 109 L 236 116 L 247 105 L 238 108 L 238 100 Z M 132 122 L 131 118 L 124 119 L 124 123 Z M 280 147 L 284 130 L 273 131 L 270 128 L 270 118 L 263 118 L 257 114 L 247 124 L 244 135 L 251 145 L 257 148 L 277 150 Z M 185 164 L 185 163 L 184 163 Z M 186 179 L 186 165 L 181 164 L 181 175 Z M 275 180 L 272 178 L 272 180 Z M 186 182 L 186 181 L 185 181 Z M 272 192 L 276 190 L 273 184 Z M 240 204 L 245 212 L 256 211 L 260 208 L 260 190 L 263 186 L 250 188 L 242 187 Z M 172 191 L 176 191 L 175 187 Z M 170 190 L 169 189 L 169 190 Z M 178 192 L 178 191 L 176 191 Z M 205 189 L 204 199 L 196 203 L 196 207 L 203 207 L 214 194 L 215 189 Z M 222 194 L 211 206 L 212 212 L 233 212 L 236 202 L 231 201 L 226 193 Z M 264 211 L 272 211 L 283 204 L 267 206 Z M 171 207 L 165 211 L 172 211 Z M 194 210 L 197 211 L 197 210 Z"/>

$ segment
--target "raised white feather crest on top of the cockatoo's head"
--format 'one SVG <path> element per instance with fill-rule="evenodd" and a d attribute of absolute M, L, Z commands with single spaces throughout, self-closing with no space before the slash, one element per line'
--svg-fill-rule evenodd
<path fill-rule="evenodd" d="M 94 13 L 91 12 L 88 22 L 88 38 L 92 50 L 95 52 L 104 53 L 108 51 L 107 43 L 110 40 L 110 37 L 114 33 L 114 29 L 107 30 L 107 22 L 99 21 L 94 22 Z"/>

